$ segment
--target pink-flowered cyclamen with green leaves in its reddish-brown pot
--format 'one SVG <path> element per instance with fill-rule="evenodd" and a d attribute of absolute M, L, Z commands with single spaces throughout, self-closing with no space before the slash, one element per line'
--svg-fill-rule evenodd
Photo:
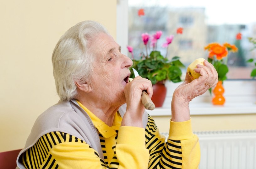
<path fill-rule="evenodd" d="M 132 54 L 133 66 L 131 69 L 131 78 L 134 78 L 132 68 L 136 69 L 139 75 L 143 78 L 147 78 L 152 82 L 154 93 L 152 101 L 156 107 L 161 107 L 166 97 L 166 80 L 174 83 L 181 82 L 182 71 L 181 68 L 185 66 L 179 60 L 180 57 L 174 56 L 171 60 L 168 60 L 167 52 L 166 56 L 161 55 L 160 51 L 156 50 L 157 40 L 160 39 L 162 32 L 157 31 L 151 37 L 149 34 L 142 34 L 142 40 L 145 45 L 145 54 L 136 60 L 133 57 L 133 48 L 128 46 L 128 51 Z M 173 35 L 166 38 L 166 42 L 162 47 L 168 47 L 173 40 Z M 151 43 L 149 43 L 151 41 Z M 151 46 L 149 45 L 151 44 Z M 150 48 L 152 50 L 150 50 Z M 150 52 L 149 52 L 150 51 Z M 168 51 L 168 50 L 167 50 Z M 149 55 L 148 55 L 149 53 Z"/>

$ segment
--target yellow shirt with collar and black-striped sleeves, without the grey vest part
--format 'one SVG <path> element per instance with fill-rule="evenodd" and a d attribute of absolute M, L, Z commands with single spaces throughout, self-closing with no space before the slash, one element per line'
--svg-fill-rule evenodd
<path fill-rule="evenodd" d="M 198 168 L 200 147 L 198 137 L 192 132 L 191 119 L 170 121 L 170 133 L 165 143 L 165 137 L 150 116 L 146 129 L 120 127 L 122 118 L 116 113 L 110 127 L 81 103 L 79 105 L 98 129 L 104 159 L 80 138 L 54 131 L 40 137 L 21 155 L 19 160 L 26 168 Z"/>

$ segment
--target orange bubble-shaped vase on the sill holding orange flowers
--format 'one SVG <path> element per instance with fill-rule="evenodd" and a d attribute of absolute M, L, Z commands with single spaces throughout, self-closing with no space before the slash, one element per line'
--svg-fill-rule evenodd
<path fill-rule="evenodd" d="M 225 103 L 225 98 L 223 97 L 224 92 L 225 89 L 222 86 L 222 81 L 219 81 L 213 90 L 214 97 L 212 98 L 212 103 L 214 105 L 223 105 Z"/>

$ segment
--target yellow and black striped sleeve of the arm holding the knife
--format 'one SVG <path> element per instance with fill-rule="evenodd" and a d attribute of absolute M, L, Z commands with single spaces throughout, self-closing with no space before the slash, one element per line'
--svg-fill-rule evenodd
<path fill-rule="evenodd" d="M 23 153 L 26 168 L 146 168 L 149 151 L 145 148 L 143 128 L 120 127 L 114 157 L 105 165 L 98 153 L 72 135 L 52 132 L 42 136 Z"/>

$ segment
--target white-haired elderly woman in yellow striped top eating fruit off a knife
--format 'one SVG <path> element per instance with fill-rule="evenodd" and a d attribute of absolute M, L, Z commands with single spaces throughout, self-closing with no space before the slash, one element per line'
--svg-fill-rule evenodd
<path fill-rule="evenodd" d="M 198 167 L 188 104 L 209 89 L 205 82 L 217 83 L 210 63 L 198 65 L 202 76 L 191 81 L 187 74 L 174 91 L 167 143 L 141 102 L 142 91 L 152 96 L 151 82 L 138 76 L 128 83 L 133 62 L 101 24 L 84 21 L 70 28 L 52 64 L 60 101 L 35 121 L 19 168 Z"/>

